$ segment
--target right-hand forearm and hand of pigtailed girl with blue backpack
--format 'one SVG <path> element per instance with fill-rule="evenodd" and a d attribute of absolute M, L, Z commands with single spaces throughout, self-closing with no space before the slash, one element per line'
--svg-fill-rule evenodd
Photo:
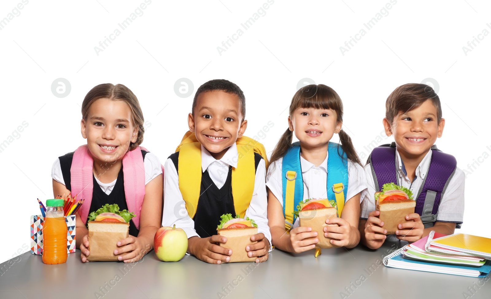
<path fill-rule="evenodd" d="M 324 227 L 324 236 L 331 238 L 331 244 L 336 247 L 353 248 L 360 241 L 358 221 L 360 219 L 360 193 L 350 198 L 343 208 L 341 217 L 328 218 L 327 224 L 339 226 Z"/>

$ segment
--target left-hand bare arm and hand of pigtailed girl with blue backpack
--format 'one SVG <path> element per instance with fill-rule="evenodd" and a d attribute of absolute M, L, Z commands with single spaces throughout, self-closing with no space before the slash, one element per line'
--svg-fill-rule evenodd
<path fill-rule="evenodd" d="M 283 207 L 273 192 L 268 189 L 268 223 L 271 231 L 271 242 L 276 248 L 284 251 L 300 253 L 315 248 L 319 239 L 304 240 L 317 237 L 317 232 L 312 232 L 310 227 L 296 227 L 285 231 L 285 218 Z"/>

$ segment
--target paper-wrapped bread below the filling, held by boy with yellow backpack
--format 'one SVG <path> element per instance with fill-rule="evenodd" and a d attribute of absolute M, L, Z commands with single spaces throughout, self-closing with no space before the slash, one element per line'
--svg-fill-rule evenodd
<path fill-rule="evenodd" d="M 248 257 L 246 246 L 257 242 L 250 241 L 252 235 L 257 234 L 257 227 L 234 227 L 222 228 L 218 230 L 218 235 L 226 237 L 226 243 L 220 243 L 220 246 L 232 249 L 230 263 L 235 262 L 254 262 L 256 257 Z"/>

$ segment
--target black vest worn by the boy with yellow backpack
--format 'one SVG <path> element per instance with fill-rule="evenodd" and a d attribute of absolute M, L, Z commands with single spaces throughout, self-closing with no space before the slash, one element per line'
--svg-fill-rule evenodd
<path fill-rule="evenodd" d="M 178 161 L 179 152 L 169 156 L 176 171 L 179 173 Z M 254 153 L 254 166 L 257 170 L 261 155 Z M 228 174 L 225 184 L 218 189 L 217 185 L 210 178 L 208 169 L 201 175 L 201 188 L 199 191 L 198 206 L 194 214 L 194 230 L 201 238 L 207 238 L 217 234 L 217 226 L 220 224 L 220 216 L 232 214 L 235 217 L 234 198 L 232 196 L 232 166 L 228 167 Z"/>

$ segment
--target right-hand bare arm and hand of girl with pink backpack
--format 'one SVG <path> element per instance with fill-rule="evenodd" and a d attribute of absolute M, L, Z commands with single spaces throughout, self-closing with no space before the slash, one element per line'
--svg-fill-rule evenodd
<path fill-rule="evenodd" d="M 138 237 L 129 236 L 117 243 L 118 246 L 122 247 L 115 249 L 114 254 L 128 252 L 118 256 L 119 260 L 125 263 L 133 263 L 139 261 L 148 251 L 152 250 L 155 233 L 160 228 L 160 219 L 162 217 L 163 189 L 162 174 L 156 176 L 145 185 Z"/>

